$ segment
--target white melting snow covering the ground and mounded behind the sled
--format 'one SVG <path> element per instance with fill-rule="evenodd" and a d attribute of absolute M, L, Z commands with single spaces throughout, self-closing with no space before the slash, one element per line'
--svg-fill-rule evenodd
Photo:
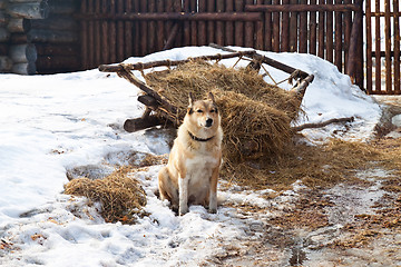
<path fill-rule="evenodd" d="M 310 141 L 327 137 L 365 140 L 372 136 L 381 116 L 379 105 L 333 65 L 309 55 L 258 52 L 315 76 L 303 101 L 306 117 L 295 123 L 355 117 L 348 127 L 304 130 Z M 214 53 L 222 51 L 185 47 L 126 62 Z M 232 66 L 235 59 L 222 62 Z M 287 78 L 273 68 L 267 70 L 277 81 Z M 217 215 L 193 206 L 187 215 L 175 216 L 154 195 L 160 166 L 136 175 L 147 192 L 145 209 L 149 212 L 137 225 L 107 224 L 86 199 L 62 195 L 68 169 L 124 165 L 125 156 L 133 151 L 168 152 L 163 135 L 124 131 L 124 121 L 144 111 L 136 100 L 138 93 L 126 80 L 98 70 L 30 77 L 0 75 L 0 238 L 13 248 L 12 253 L 0 249 L 0 265 L 198 266 L 209 263 L 225 246 L 241 247 L 238 240 L 246 236 L 250 219 L 225 205 Z M 264 208 L 272 205 L 262 197 L 264 194 L 268 191 L 225 190 L 221 197 Z M 283 197 L 294 194 L 288 191 Z"/>

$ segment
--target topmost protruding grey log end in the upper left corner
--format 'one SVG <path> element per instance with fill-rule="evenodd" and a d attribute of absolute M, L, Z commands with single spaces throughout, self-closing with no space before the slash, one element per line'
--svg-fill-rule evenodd
<path fill-rule="evenodd" d="M 19 19 L 46 19 L 49 14 L 49 6 L 47 1 L 10 3 L 7 12 L 12 18 Z"/>

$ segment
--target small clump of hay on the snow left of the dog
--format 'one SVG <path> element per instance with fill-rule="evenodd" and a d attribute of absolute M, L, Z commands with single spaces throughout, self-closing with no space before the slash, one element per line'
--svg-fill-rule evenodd
<path fill-rule="evenodd" d="M 134 224 L 137 216 L 144 215 L 146 195 L 140 184 L 127 174 L 133 169 L 121 167 L 104 179 L 72 179 L 65 186 L 65 194 L 87 197 L 101 204 L 101 216 L 108 222 Z"/>

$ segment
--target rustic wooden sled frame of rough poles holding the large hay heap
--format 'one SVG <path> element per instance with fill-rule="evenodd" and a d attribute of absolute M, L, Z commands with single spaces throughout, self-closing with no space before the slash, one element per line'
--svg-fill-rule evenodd
<path fill-rule="evenodd" d="M 282 70 L 286 73 L 288 73 L 288 80 L 290 82 L 295 81 L 294 87 L 291 89 L 292 92 L 294 92 L 294 97 L 300 98 L 300 100 L 303 99 L 305 95 L 305 90 L 307 86 L 313 81 L 313 75 L 309 75 L 302 70 L 295 69 L 293 67 L 290 67 L 287 65 L 284 65 L 282 62 L 278 62 L 274 59 L 267 58 L 265 56 L 262 56 L 257 53 L 255 50 L 246 50 L 246 51 L 235 51 L 233 49 L 221 47 L 214 43 L 209 44 L 211 47 L 222 49 L 223 51 L 226 51 L 226 53 L 217 53 L 213 56 L 202 56 L 196 58 L 188 58 L 185 60 L 162 60 L 162 61 L 153 61 L 153 62 L 146 62 L 146 63 L 119 63 L 119 65 L 101 65 L 99 66 L 99 70 L 102 72 L 116 72 L 119 77 L 125 78 L 130 83 L 138 87 L 140 90 L 145 92 L 144 96 L 138 97 L 138 101 L 144 103 L 146 106 L 146 110 L 144 115 L 140 118 L 136 119 L 127 119 L 124 123 L 124 129 L 128 132 L 134 132 L 143 129 L 147 129 L 154 126 L 159 125 L 166 125 L 166 123 L 173 123 L 175 127 L 177 127 L 180 123 L 180 119 L 177 117 L 177 107 L 175 107 L 173 103 L 170 103 L 165 97 L 160 96 L 157 91 L 151 89 L 149 86 L 147 86 L 145 82 L 140 81 L 135 75 L 133 73 L 133 70 L 144 70 L 155 67 L 173 67 L 178 66 L 182 63 L 186 63 L 189 60 L 223 60 L 228 58 L 238 58 L 237 62 L 239 60 L 248 60 L 250 63 L 247 65 L 247 68 L 253 68 L 256 70 L 260 70 L 261 68 L 264 69 L 263 65 L 268 65 L 275 69 Z M 268 75 L 267 70 L 264 69 L 266 75 Z M 301 101 L 300 101 L 301 102 Z M 151 115 L 151 111 L 157 110 L 165 120 L 160 119 L 159 117 L 156 117 Z"/>

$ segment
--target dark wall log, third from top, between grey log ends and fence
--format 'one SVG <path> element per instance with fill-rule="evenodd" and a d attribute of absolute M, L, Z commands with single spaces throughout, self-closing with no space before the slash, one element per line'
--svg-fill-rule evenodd
<path fill-rule="evenodd" d="M 65 43 L 77 42 L 78 32 L 75 31 L 58 31 L 46 29 L 31 29 L 27 33 L 29 42 L 51 42 L 51 43 Z"/>

